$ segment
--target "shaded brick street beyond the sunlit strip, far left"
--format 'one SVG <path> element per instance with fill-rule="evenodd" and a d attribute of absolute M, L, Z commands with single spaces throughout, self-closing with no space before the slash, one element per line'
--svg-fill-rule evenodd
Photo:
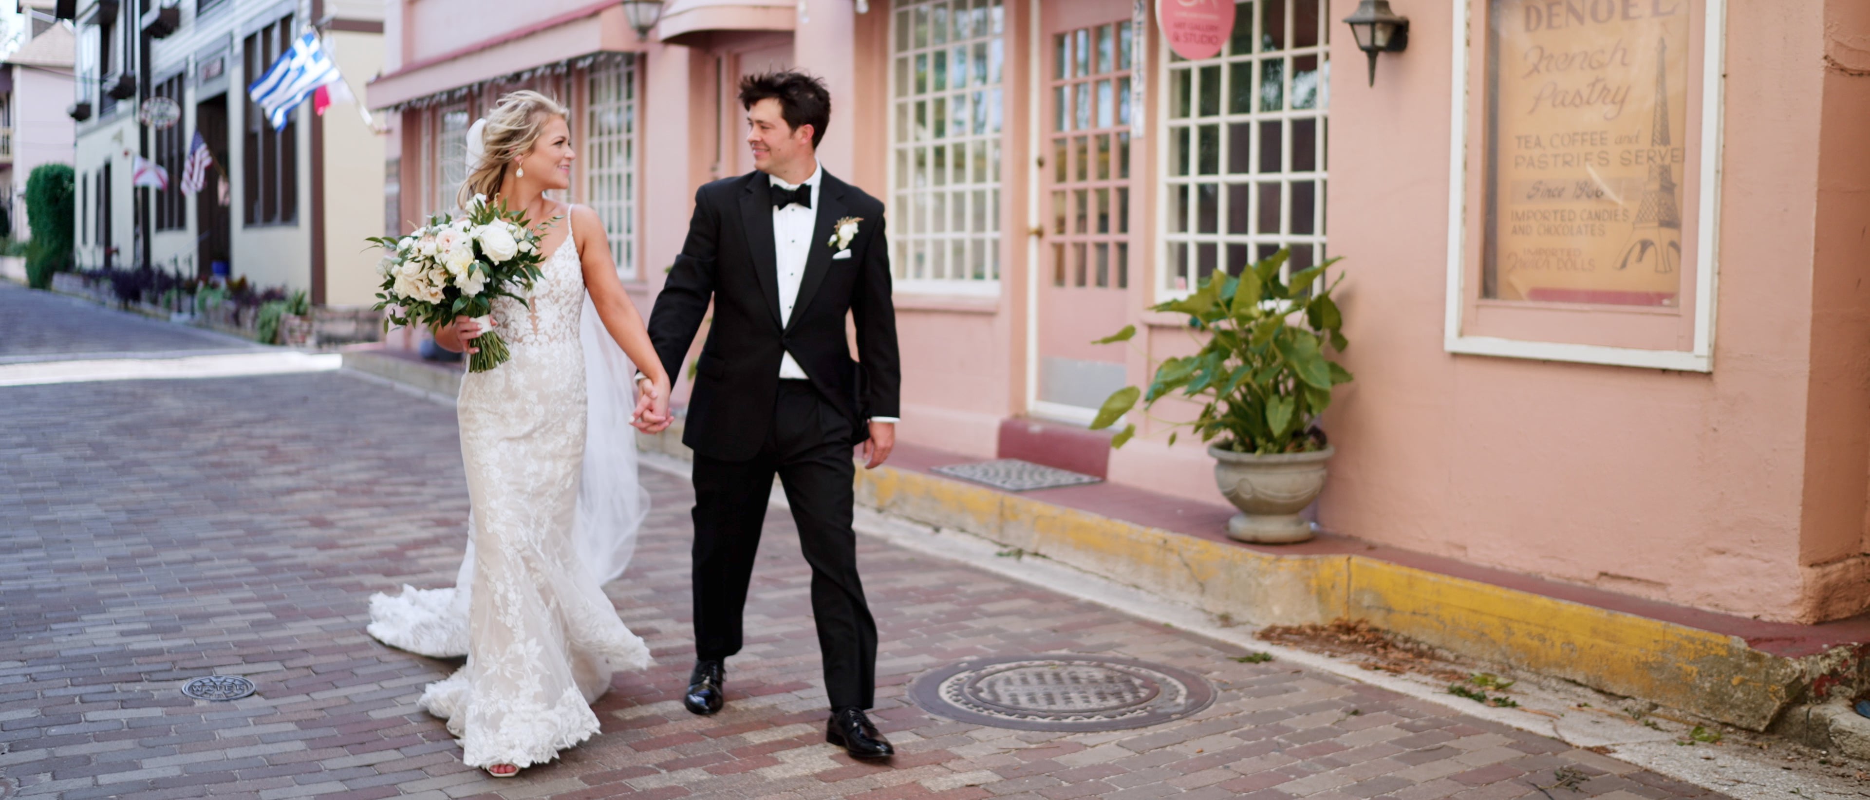
<path fill-rule="evenodd" d="M 52 355 L 237 348 L 254 344 L 0 280 L 0 363 Z"/>

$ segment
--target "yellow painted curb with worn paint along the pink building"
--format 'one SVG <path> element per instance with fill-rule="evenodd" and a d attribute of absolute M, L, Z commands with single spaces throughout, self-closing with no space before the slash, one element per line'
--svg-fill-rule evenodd
<path fill-rule="evenodd" d="M 1369 621 L 1750 731 L 1771 725 L 1806 682 L 1799 662 L 1739 637 L 1361 555 L 1268 555 L 894 467 L 858 469 L 856 499 L 1242 622 Z"/>

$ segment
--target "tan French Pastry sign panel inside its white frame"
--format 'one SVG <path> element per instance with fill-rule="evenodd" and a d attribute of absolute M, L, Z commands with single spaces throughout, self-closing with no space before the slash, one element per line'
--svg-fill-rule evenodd
<path fill-rule="evenodd" d="M 1692 0 L 1490 0 L 1481 295 L 1679 305 Z"/>

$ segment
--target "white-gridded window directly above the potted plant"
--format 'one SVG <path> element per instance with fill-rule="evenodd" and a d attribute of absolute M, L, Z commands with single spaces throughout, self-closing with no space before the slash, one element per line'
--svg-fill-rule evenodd
<path fill-rule="evenodd" d="M 1161 293 L 1281 247 L 1290 271 L 1324 258 L 1328 32 L 1328 0 L 1242 0 L 1219 56 L 1171 54 Z"/>

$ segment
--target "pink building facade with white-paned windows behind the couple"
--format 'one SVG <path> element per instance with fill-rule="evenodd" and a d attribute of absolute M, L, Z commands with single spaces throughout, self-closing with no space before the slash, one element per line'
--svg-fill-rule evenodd
<path fill-rule="evenodd" d="M 1870 606 L 1870 7 L 1393 0 L 1373 82 L 1352 0 L 1242 0 L 1195 60 L 1154 6 L 668 0 L 640 37 L 615 0 L 395 0 L 387 215 L 449 206 L 473 118 L 542 88 L 647 308 L 694 187 L 752 168 L 735 80 L 802 67 L 825 166 L 890 207 L 903 441 L 1219 503 L 1154 422 L 1072 443 L 1193 348 L 1146 307 L 1290 247 L 1348 277 L 1324 527 L 1760 619 Z"/>

